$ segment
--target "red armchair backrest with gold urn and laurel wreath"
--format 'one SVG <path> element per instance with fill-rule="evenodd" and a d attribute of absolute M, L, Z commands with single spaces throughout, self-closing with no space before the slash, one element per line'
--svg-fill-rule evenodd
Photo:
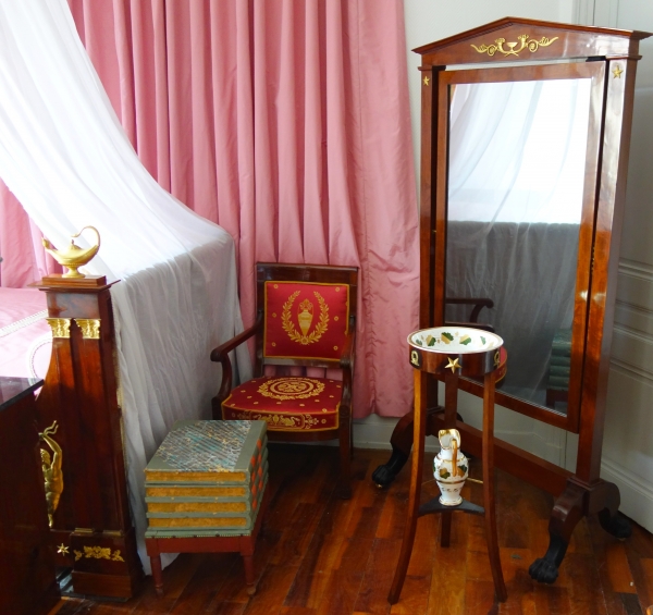
<path fill-rule="evenodd" d="M 335 367 L 356 330 L 358 269 L 257 265 L 259 365 Z"/>

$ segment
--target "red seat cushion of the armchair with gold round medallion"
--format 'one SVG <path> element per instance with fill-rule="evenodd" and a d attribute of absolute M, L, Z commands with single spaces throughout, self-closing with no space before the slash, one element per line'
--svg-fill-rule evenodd
<path fill-rule="evenodd" d="M 328 378 L 256 378 L 232 390 L 222 403 L 222 418 L 264 420 L 271 431 L 337 429 L 342 386 Z"/>

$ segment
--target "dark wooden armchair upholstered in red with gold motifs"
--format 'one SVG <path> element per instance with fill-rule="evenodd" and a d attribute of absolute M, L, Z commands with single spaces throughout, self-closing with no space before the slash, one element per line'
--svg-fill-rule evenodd
<path fill-rule="evenodd" d="M 256 323 L 211 353 L 222 365 L 213 418 L 258 419 L 270 440 L 340 440 L 342 497 L 350 496 L 352 382 L 358 269 L 258 263 Z M 232 386 L 229 353 L 256 336 L 255 378 Z M 264 366 L 337 368 L 342 380 L 264 376 Z"/>

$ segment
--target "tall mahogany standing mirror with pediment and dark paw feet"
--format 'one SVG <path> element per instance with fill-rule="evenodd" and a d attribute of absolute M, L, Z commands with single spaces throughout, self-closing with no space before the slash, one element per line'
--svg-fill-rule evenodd
<path fill-rule="evenodd" d="M 495 331 L 508 355 L 496 403 L 579 434 L 574 473 L 496 443 L 497 467 L 557 499 L 549 550 L 530 568 L 543 582 L 556 579 L 584 515 L 630 533 L 600 465 L 634 74 L 648 36 L 506 17 L 415 50 L 420 329 Z M 436 434 L 454 426 L 431 384 L 427 433 Z M 471 380 L 460 389 L 483 394 Z M 480 455 L 480 432 L 455 427 Z M 383 487 L 408 458 L 412 413 L 391 443 L 373 475 Z"/>

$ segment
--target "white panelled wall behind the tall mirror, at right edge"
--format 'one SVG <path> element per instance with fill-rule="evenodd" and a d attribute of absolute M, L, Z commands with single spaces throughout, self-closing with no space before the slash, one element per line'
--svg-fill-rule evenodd
<path fill-rule="evenodd" d="M 596 0 L 595 25 L 653 32 L 653 3 Z M 641 41 L 617 286 L 602 477 L 653 531 L 653 37 Z"/>

